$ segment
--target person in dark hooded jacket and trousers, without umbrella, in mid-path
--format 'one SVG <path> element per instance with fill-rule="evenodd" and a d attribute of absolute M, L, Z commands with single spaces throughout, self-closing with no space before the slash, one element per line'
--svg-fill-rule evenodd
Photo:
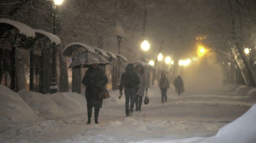
<path fill-rule="evenodd" d="M 125 113 L 127 116 L 132 116 L 132 112 L 134 111 L 134 101 L 135 101 L 135 93 L 139 89 L 139 76 L 134 71 L 134 65 L 132 63 L 128 63 L 127 67 L 125 68 L 125 72 L 122 73 L 120 87 L 119 87 L 119 94 L 122 93 L 122 89 L 124 87 L 124 94 L 125 94 Z M 130 109 L 129 109 L 129 102 Z"/>

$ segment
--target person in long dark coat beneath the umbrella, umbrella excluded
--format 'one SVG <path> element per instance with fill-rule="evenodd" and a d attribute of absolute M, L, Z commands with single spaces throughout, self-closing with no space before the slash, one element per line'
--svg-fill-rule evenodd
<path fill-rule="evenodd" d="M 108 83 L 104 71 L 98 67 L 98 63 L 90 65 L 82 80 L 85 85 L 85 98 L 87 101 L 87 124 L 91 124 L 91 116 L 94 107 L 95 124 L 98 123 L 98 115 L 102 107 L 102 100 L 99 98 L 100 88 Z"/>

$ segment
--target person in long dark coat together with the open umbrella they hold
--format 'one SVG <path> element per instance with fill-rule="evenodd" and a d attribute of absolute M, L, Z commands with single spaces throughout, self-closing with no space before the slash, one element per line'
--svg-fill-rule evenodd
<path fill-rule="evenodd" d="M 100 90 L 108 83 L 108 78 L 104 71 L 99 68 L 100 65 L 106 66 L 110 62 L 102 55 L 93 52 L 87 52 L 78 56 L 69 65 L 69 68 L 78 69 L 88 67 L 83 76 L 82 83 L 85 85 L 85 98 L 87 101 L 87 124 L 91 124 L 91 116 L 94 107 L 95 123 L 98 123 L 98 115 L 102 107 L 102 99 L 99 98 Z"/>

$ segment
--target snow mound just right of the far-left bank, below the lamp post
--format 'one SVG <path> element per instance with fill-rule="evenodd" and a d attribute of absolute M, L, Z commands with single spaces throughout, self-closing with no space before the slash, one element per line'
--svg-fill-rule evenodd
<path fill-rule="evenodd" d="M 18 92 L 20 97 L 35 111 L 39 117 L 55 119 L 65 117 L 63 110 L 47 95 L 22 89 Z"/>

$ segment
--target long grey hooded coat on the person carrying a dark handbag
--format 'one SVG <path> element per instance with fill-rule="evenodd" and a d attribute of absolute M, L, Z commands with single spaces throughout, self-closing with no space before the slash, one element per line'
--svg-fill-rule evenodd
<path fill-rule="evenodd" d="M 137 68 L 141 67 L 142 71 L 138 72 Z M 145 89 L 148 89 L 148 81 L 147 81 L 147 76 L 145 75 L 144 67 L 142 65 L 137 65 L 135 67 L 135 71 L 139 75 L 139 91 L 136 92 L 137 95 L 139 96 L 144 96 Z"/>

